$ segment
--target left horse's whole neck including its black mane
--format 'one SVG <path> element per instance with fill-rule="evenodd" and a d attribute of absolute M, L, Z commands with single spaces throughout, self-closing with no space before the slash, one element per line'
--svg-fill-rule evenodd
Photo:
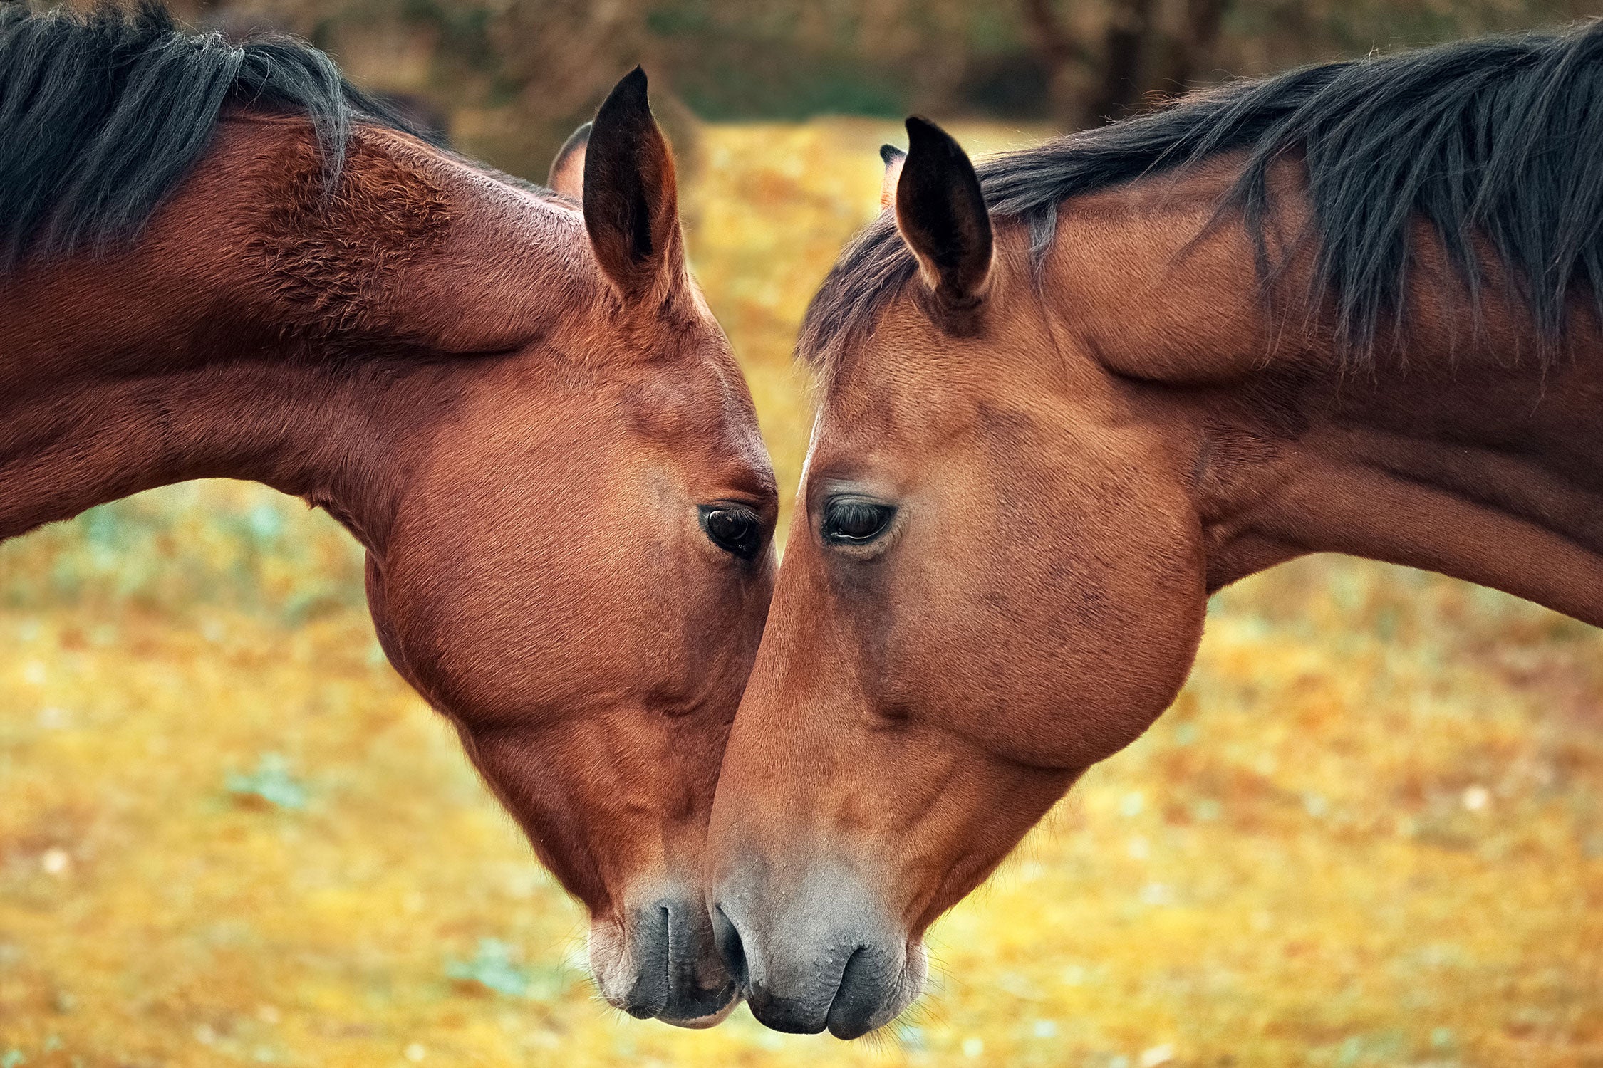
<path fill-rule="evenodd" d="M 0 538 L 237 477 L 383 544 L 474 375 L 604 287 L 575 211 L 380 118 L 297 42 L 0 8 Z"/>

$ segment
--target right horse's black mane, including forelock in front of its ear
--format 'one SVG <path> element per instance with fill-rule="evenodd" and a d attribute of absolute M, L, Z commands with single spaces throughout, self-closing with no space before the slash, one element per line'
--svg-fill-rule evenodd
<path fill-rule="evenodd" d="M 1377 335 L 1404 315 L 1409 227 L 1420 218 L 1476 314 L 1486 279 L 1475 248 L 1489 243 L 1544 351 L 1561 338 L 1573 293 L 1590 293 L 1603 315 L 1603 22 L 1239 82 L 978 171 L 992 215 L 1026 224 L 1039 256 L 1064 200 L 1230 151 L 1246 152 L 1246 168 L 1220 211 L 1239 211 L 1262 275 L 1273 271 L 1268 171 L 1279 159 L 1305 162 L 1314 282 L 1334 299 L 1350 355 L 1371 359 Z M 813 298 L 803 359 L 827 365 L 864 338 L 914 272 L 882 215 Z"/>

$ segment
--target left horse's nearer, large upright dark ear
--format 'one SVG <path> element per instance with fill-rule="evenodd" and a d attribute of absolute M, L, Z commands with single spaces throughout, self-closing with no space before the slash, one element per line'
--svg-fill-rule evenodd
<path fill-rule="evenodd" d="M 625 299 L 667 295 L 684 275 L 673 155 L 646 102 L 646 72 L 624 75 L 590 128 L 585 229 Z"/>

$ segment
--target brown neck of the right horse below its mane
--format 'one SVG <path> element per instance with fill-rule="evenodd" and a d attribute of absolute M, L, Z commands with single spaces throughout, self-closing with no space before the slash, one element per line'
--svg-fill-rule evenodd
<path fill-rule="evenodd" d="M 1217 192 L 1218 176 L 1207 181 Z M 1475 323 L 1427 243 L 1401 331 L 1372 360 L 1343 357 L 1327 307 L 1306 303 L 1308 258 L 1266 303 L 1239 226 L 1188 248 L 1217 197 L 1178 192 L 1172 208 L 1137 191 L 1133 205 L 1066 213 L 1050 275 L 1068 293 L 1058 328 L 1117 371 L 1170 442 L 1209 588 L 1345 552 L 1603 624 L 1603 338 L 1590 311 L 1577 301 L 1561 351 L 1542 359 L 1499 295 Z M 1125 211 L 1120 226 L 1106 226 L 1109 210 Z"/>

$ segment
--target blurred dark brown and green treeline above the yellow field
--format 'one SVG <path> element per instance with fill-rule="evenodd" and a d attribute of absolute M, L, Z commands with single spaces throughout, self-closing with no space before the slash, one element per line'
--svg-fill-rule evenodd
<path fill-rule="evenodd" d="M 1098 125 L 1233 75 L 1518 32 L 1582 0 L 173 0 L 196 26 L 281 29 L 452 138 L 539 175 L 644 62 L 689 125 L 816 114 Z M 667 115 L 670 126 L 675 115 Z"/>

